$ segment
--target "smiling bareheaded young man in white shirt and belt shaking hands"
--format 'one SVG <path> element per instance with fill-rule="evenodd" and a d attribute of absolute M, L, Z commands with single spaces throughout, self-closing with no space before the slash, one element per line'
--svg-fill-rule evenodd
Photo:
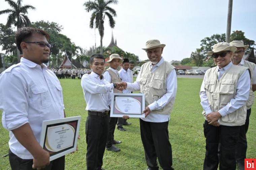
<path fill-rule="evenodd" d="M 88 170 L 102 170 L 103 155 L 109 131 L 109 106 L 116 83 L 109 83 L 102 73 L 105 59 L 101 54 L 93 54 L 90 59 L 90 74 L 84 74 L 81 86 L 86 101 L 86 165 Z"/>

